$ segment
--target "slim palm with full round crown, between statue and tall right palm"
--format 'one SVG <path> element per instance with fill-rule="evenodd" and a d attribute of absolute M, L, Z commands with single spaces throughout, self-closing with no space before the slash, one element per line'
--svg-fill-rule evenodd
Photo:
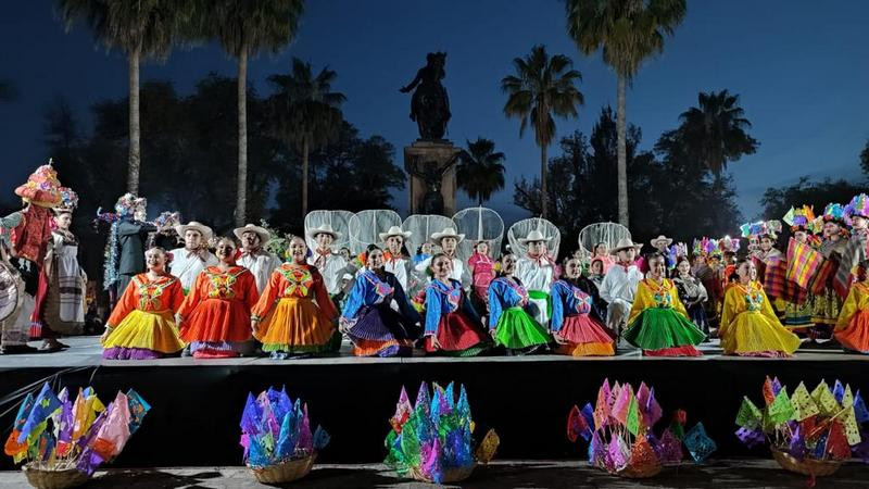
<path fill-rule="evenodd" d="M 576 117 L 577 105 L 584 99 L 574 85 L 582 75 L 572 70 L 572 62 L 564 54 L 550 58 L 542 45 L 531 48 L 525 58 L 513 60 L 515 75 L 501 80 L 501 89 L 508 95 L 504 115 L 519 117 L 519 137 L 528 124 L 534 129 L 534 140 L 540 147 L 540 190 L 542 214 L 546 216 L 549 193 L 546 188 L 546 149 L 555 139 L 555 115 Z"/>

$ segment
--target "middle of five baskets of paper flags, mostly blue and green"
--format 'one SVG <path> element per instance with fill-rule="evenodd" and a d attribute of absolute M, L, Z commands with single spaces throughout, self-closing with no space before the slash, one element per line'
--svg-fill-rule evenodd
<path fill-rule="evenodd" d="M 470 418 L 465 386 L 446 389 L 426 383 L 419 387 L 416 403 L 411 404 L 402 387 L 395 414 L 389 421 L 392 430 L 386 439 L 386 463 L 402 477 L 443 484 L 470 476 L 477 463 L 489 463 L 500 442 L 489 430 L 476 451 L 473 448 L 475 424 Z"/>

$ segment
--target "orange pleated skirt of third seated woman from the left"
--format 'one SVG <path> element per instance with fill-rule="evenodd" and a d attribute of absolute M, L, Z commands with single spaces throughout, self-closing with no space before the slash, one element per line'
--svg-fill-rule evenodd
<path fill-rule="evenodd" d="M 323 353 L 333 350 L 335 325 L 317 304 L 307 298 L 285 297 L 260 323 L 254 337 L 263 351 Z"/>

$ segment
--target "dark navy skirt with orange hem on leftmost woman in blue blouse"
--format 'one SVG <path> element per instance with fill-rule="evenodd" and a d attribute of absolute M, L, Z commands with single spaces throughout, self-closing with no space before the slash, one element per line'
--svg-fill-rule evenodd
<path fill-rule="evenodd" d="M 363 306 L 347 330 L 356 356 L 410 356 L 419 331 L 388 304 Z"/>

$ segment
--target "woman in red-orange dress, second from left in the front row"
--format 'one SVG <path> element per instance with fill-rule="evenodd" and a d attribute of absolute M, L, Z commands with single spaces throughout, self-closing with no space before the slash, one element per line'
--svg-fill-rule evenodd
<path fill-rule="evenodd" d="M 240 356 L 250 347 L 256 279 L 236 265 L 236 250 L 230 238 L 217 241 L 217 265 L 199 273 L 178 311 L 181 339 L 197 359 Z"/>

